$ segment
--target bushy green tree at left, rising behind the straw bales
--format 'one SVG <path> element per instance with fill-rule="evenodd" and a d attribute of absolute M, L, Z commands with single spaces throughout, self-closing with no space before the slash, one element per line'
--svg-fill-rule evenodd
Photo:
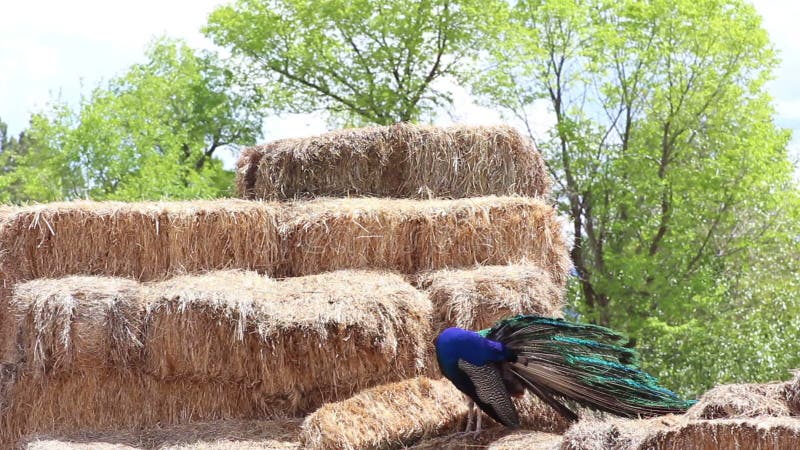
<path fill-rule="evenodd" d="M 213 55 L 159 40 L 76 110 L 56 101 L 34 115 L 31 145 L 0 183 L 21 187 L 16 201 L 220 196 L 233 175 L 213 155 L 255 141 L 258 104 Z"/>

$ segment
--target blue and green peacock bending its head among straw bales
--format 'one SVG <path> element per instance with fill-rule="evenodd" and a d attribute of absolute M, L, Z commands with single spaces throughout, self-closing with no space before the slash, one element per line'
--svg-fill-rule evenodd
<path fill-rule="evenodd" d="M 564 319 L 518 315 L 478 332 L 448 328 L 436 338 L 436 359 L 468 398 L 467 431 L 475 404 L 495 421 L 518 427 L 511 398 L 526 389 L 570 422 L 578 415 L 567 401 L 624 417 L 683 413 L 694 403 L 643 372 L 623 334 Z"/>

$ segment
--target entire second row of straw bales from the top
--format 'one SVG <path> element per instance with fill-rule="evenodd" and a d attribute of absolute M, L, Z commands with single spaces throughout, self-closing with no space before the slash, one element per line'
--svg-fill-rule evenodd
<path fill-rule="evenodd" d="M 0 229 L 5 286 L 68 275 L 149 281 L 221 269 L 413 274 L 523 259 L 563 283 L 570 266 L 554 209 L 522 197 L 72 202 L 18 208 L 7 219 Z"/>

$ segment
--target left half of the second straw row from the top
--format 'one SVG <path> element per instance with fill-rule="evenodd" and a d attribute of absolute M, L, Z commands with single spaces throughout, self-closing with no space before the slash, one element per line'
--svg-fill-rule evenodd
<path fill-rule="evenodd" d="M 270 272 L 280 256 L 277 214 L 274 204 L 240 200 L 21 207 L 0 230 L 0 274 L 8 286 L 67 275 Z"/>

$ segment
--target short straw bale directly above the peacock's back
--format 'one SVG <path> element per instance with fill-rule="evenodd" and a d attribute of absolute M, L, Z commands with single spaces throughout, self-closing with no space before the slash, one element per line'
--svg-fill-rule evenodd
<path fill-rule="evenodd" d="M 517 314 L 561 315 L 564 287 L 535 264 L 444 269 L 421 275 L 434 309 L 434 331 L 482 330 Z"/>

